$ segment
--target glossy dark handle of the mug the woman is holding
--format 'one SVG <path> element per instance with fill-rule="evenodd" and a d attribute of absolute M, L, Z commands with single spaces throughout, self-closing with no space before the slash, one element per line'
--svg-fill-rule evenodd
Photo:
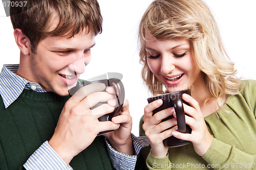
<path fill-rule="evenodd" d="M 184 112 L 183 104 L 181 101 L 181 96 L 180 94 L 173 95 L 173 97 L 170 100 L 172 100 L 174 104 L 174 109 L 177 115 L 178 131 L 181 133 L 185 133 L 186 132 L 185 112 Z"/>

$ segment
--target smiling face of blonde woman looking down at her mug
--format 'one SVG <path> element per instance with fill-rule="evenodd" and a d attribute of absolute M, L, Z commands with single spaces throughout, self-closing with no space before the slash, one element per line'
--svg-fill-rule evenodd
<path fill-rule="evenodd" d="M 157 40 L 146 33 L 146 58 L 150 70 L 168 92 L 196 88 L 203 81 L 201 70 L 192 58 L 192 49 L 187 39 Z"/>

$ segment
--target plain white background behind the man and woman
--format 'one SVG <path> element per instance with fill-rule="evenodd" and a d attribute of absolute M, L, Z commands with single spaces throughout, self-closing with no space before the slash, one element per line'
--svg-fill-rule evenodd
<path fill-rule="evenodd" d="M 192 0 L 193 1 L 193 0 Z M 132 132 L 138 135 L 139 119 L 149 96 L 140 77 L 137 49 L 138 24 L 151 0 L 98 0 L 103 16 L 103 32 L 96 37 L 92 60 L 81 78 L 93 78 L 105 72 L 120 72 L 125 98 L 133 117 Z M 218 22 L 225 48 L 236 62 L 239 76 L 256 79 L 256 1 L 206 0 Z M 10 17 L 0 4 L 0 68 L 19 63 L 19 49 L 14 41 Z"/>

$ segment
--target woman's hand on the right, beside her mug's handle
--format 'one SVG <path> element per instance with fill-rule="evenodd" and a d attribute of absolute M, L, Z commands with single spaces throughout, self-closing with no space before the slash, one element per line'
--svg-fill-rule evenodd
<path fill-rule="evenodd" d="M 172 134 L 176 138 L 191 141 L 194 145 L 196 153 L 203 156 L 210 147 L 212 137 L 206 127 L 204 116 L 201 113 L 198 102 L 188 94 L 183 94 L 182 99 L 190 106 L 183 104 L 186 124 L 192 129 L 191 134 L 180 133 L 174 131 Z M 176 116 L 176 114 L 174 114 Z"/>

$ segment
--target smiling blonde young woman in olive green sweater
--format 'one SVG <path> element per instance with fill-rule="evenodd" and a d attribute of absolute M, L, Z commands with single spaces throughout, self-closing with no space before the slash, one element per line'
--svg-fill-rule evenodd
<path fill-rule="evenodd" d="M 190 88 L 182 96 L 191 134 L 177 131 L 174 108 L 152 115 L 145 107 L 140 135 L 151 148 L 142 153 L 150 169 L 255 169 L 256 81 L 242 81 L 224 50 L 214 17 L 201 0 L 156 0 L 139 26 L 142 78 L 153 95 Z M 166 90 L 164 90 L 164 88 Z M 173 127 L 173 128 L 170 128 Z M 169 129 L 170 128 L 170 129 Z M 168 148 L 169 136 L 191 141 Z"/>

